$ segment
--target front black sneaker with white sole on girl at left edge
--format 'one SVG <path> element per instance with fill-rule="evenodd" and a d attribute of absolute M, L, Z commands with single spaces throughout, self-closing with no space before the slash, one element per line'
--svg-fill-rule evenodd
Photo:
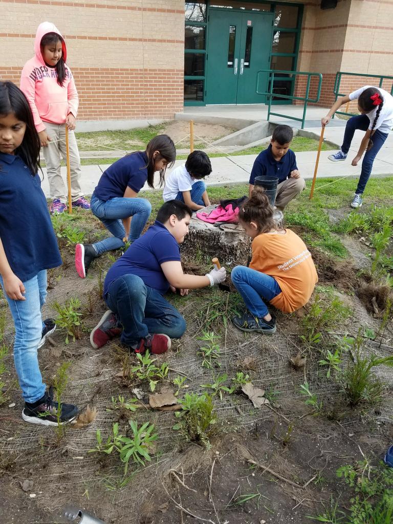
<path fill-rule="evenodd" d="M 22 411 L 22 418 L 30 424 L 58 425 L 57 412 L 58 403 L 53 400 L 52 387 L 45 395 L 32 404 L 25 402 L 25 409 Z M 67 424 L 77 418 L 78 407 L 73 404 L 60 403 L 60 424 Z"/>

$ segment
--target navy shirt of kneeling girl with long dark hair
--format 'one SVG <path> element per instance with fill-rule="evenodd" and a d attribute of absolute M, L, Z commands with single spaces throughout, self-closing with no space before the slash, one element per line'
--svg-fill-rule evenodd
<path fill-rule="evenodd" d="M 137 151 L 117 160 L 102 173 L 94 194 L 106 202 L 111 198 L 122 198 L 127 186 L 136 193 L 147 180 L 147 155 Z"/>

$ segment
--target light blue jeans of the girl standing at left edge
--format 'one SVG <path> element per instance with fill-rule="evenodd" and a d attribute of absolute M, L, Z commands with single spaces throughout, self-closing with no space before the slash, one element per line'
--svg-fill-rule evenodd
<path fill-rule="evenodd" d="M 0 284 L 4 291 L 3 279 Z M 14 362 L 19 386 L 26 402 L 43 397 L 46 385 L 38 365 L 37 346 L 42 335 L 41 308 L 47 296 L 47 272 L 23 282 L 26 300 L 12 300 L 4 291 L 15 324 Z"/>

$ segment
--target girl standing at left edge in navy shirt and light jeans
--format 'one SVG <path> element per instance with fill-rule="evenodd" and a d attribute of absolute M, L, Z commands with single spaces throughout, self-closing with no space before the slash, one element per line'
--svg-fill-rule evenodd
<path fill-rule="evenodd" d="M 44 324 L 41 319 L 46 270 L 61 265 L 37 174 L 39 151 L 25 95 L 12 82 L 0 82 L 0 285 L 15 324 L 14 361 L 25 399 L 22 417 L 32 424 L 57 425 L 59 406 L 42 382 L 37 351 L 56 328 L 50 319 Z M 78 414 L 71 404 L 61 403 L 60 410 L 61 423 Z"/>

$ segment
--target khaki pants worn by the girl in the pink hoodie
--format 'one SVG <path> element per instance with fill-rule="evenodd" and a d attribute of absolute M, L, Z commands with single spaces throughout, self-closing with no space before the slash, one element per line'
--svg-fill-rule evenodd
<path fill-rule="evenodd" d="M 48 146 L 43 147 L 43 156 L 47 165 L 50 198 L 58 198 L 63 204 L 67 204 L 68 190 L 67 185 L 60 174 L 60 153 L 64 161 L 67 159 L 65 150 L 65 124 L 51 124 L 45 122 L 45 130 L 49 138 L 53 141 Z M 81 159 L 77 146 L 77 140 L 73 131 L 68 132 L 70 168 L 71 168 L 71 197 L 72 202 L 83 196 L 81 190 Z"/>

